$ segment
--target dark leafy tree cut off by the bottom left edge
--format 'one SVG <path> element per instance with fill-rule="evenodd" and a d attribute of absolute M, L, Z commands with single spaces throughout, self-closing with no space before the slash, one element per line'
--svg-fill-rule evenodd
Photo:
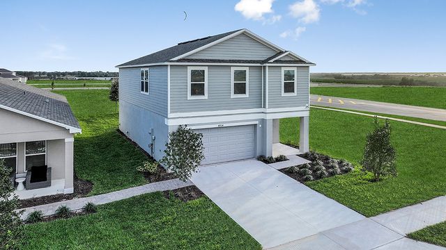
<path fill-rule="evenodd" d="M 22 219 L 15 210 L 19 205 L 17 195 L 13 194 L 14 187 L 10 181 L 13 171 L 0 159 L 0 249 L 20 249 L 23 236 Z"/>

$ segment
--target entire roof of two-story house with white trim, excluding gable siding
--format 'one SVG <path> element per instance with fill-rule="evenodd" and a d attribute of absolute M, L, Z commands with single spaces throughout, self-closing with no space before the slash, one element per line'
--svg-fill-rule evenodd
<path fill-rule="evenodd" d="M 125 67 L 125 66 L 133 66 L 133 65 L 148 65 L 153 63 L 167 63 L 167 62 L 175 62 L 175 63 L 268 63 L 273 58 L 278 58 L 283 54 L 289 53 L 289 51 L 284 51 L 283 49 L 280 49 L 277 47 L 276 49 L 279 51 L 277 54 L 270 58 L 266 58 L 265 60 L 215 60 L 215 59 L 187 59 L 187 58 L 177 58 L 179 56 L 184 55 L 185 53 L 189 53 L 191 51 L 194 51 L 196 49 L 199 49 L 201 47 L 204 47 L 210 43 L 217 42 L 218 40 L 222 40 L 222 38 L 226 38 L 229 35 L 237 35 L 235 33 L 249 33 L 250 35 L 256 36 L 259 40 L 263 40 L 263 38 L 259 38 L 257 35 L 252 33 L 251 31 L 248 31 L 247 29 L 238 29 L 236 31 L 229 31 L 226 33 L 218 34 L 218 35 L 211 35 L 206 38 L 199 38 L 195 40 L 190 40 L 187 42 L 180 42 L 174 47 L 170 47 L 167 49 L 163 49 L 161 51 L 157 51 L 155 53 L 151 53 L 148 56 L 143 56 L 141 58 L 137 58 L 134 60 L 131 60 L 130 62 L 123 63 L 121 65 L 118 65 L 116 67 Z M 268 42 L 266 40 L 263 40 L 263 42 Z M 268 42 L 269 43 L 269 42 Z M 272 46 L 274 46 L 272 44 Z M 275 47 L 275 46 L 274 46 Z M 300 58 L 299 56 L 292 54 L 296 58 Z M 174 59 L 176 58 L 176 60 Z M 293 63 L 293 64 L 313 64 L 309 61 L 305 60 L 304 58 L 300 58 L 298 60 L 282 60 L 279 62 L 269 62 L 269 63 Z"/>

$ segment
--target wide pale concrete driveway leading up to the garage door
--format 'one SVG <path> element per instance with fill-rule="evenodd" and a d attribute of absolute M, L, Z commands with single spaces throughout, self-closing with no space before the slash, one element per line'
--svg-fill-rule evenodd
<path fill-rule="evenodd" d="M 191 180 L 264 248 L 364 219 L 258 160 L 201 167 Z"/>

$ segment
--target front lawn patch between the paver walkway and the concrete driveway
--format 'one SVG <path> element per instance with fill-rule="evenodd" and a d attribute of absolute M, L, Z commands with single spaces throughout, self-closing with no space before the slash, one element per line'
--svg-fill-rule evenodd
<path fill-rule="evenodd" d="M 24 249 L 261 249 L 206 197 L 160 192 L 99 206 L 98 213 L 26 226 Z"/>

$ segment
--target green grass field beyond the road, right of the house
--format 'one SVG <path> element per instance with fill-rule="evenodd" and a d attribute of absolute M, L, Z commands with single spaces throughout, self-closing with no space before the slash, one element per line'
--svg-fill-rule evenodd
<path fill-rule="evenodd" d="M 383 88 L 344 88 L 314 87 L 311 94 L 330 97 L 345 97 L 370 101 L 384 101 L 413 106 L 446 109 L 446 88 L 429 87 L 383 87 Z"/>

